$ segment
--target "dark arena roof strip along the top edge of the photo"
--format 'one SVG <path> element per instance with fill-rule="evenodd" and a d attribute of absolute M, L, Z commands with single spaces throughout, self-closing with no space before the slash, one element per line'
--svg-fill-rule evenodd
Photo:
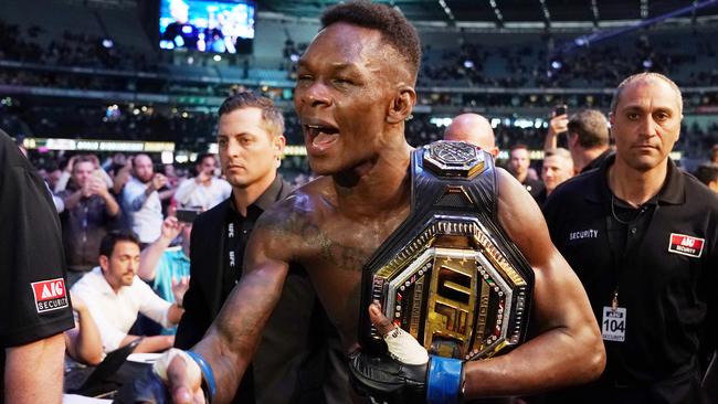
<path fill-rule="evenodd" d="M 287 17 L 317 18 L 339 0 L 256 0 L 262 11 Z M 677 10 L 697 7 L 683 17 L 718 15 L 718 0 L 377 0 L 398 7 L 411 21 L 446 24 L 465 22 L 514 22 L 551 24 L 555 22 L 593 22 L 650 20 Z"/>

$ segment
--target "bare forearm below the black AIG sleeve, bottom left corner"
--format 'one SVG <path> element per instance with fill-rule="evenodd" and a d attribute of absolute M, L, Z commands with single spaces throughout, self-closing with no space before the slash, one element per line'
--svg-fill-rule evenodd
<path fill-rule="evenodd" d="M 65 340 L 62 332 L 25 345 L 6 349 L 4 402 L 62 402 L 64 354 Z"/>

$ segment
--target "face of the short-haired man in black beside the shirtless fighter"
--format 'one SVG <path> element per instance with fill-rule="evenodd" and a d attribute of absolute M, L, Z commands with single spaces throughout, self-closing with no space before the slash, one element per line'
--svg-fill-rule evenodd
<path fill-rule="evenodd" d="M 222 115 L 217 138 L 222 172 L 232 187 L 247 188 L 274 179 L 285 139 L 270 132 L 260 108 Z"/>

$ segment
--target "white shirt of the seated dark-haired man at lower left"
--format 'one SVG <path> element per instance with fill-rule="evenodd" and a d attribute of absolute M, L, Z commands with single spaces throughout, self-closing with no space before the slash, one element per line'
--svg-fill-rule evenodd
<path fill-rule="evenodd" d="M 162 327 L 171 326 L 167 316 L 172 304 L 157 296 L 137 275 L 131 286 L 123 286 L 115 293 L 97 266 L 77 280 L 71 291 L 87 305 L 105 352 L 119 348 L 137 320 L 138 312 Z"/>

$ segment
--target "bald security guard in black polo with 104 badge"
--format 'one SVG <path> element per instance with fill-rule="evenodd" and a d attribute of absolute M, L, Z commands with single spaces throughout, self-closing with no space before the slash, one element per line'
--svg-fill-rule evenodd
<path fill-rule="evenodd" d="M 669 78 L 626 78 L 611 106 L 615 156 L 545 205 L 608 354 L 598 382 L 549 403 L 700 402 L 701 362 L 717 341 L 718 198 L 668 158 L 682 110 Z"/>

